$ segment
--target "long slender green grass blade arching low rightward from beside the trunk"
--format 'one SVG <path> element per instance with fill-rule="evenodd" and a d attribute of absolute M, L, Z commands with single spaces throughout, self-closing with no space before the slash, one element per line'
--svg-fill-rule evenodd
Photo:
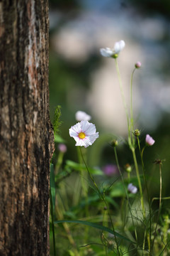
<path fill-rule="evenodd" d="M 121 238 L 121 239 L 126 240 L 128 242 L 132 242 L 130 239 L 125 238 L 123 235 L 120 235 L 117 232 L 113 232 L 113 230 L 111 230 L 110 228 L 107 228 L 103 225 L 98 225 L 96 223 L 91 223 L 91 222 L 88 222 L 88 221 L 83 221 L 83 220 L 57 220 L 54 223 L 55 224 L 59 224 L 59 223 L 78 223 L 78 224 L 83 224 L 83 225 L 89 225 L 92 228 L 98 228 L 99 230 L 103 230 L 103 231 L 106 231 L 106 232 L 111 233 L 113 235 L 116 235 L 118 238 Z M 132 243 L 135 243 L 135 242 L 132 242 Z"/>

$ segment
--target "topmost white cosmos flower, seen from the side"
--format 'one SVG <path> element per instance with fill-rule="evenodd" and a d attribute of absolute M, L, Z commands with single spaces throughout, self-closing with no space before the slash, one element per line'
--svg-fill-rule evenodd
<path fill-rule="evenodd" d="M 125 41 L 120 40 L 118 42 L 115 42 L 115 45 L 113 48 L 101 48 L 101 55 L 104 57 L 113 57 L 117 58 L 118 53 L 120 53 L 120 50 L 123 50 L 125 47 Z"/>

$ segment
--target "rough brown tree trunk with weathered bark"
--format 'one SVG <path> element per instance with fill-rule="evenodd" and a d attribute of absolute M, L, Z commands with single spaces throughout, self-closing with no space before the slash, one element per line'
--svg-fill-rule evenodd
<path fill-rule="evenodd" d="M 0 255 L 49 255 L 47 0 L 0 0 Z"/>

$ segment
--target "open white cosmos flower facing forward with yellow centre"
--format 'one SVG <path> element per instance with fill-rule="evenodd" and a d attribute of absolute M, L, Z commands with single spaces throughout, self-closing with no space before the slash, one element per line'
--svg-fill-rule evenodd
<path fill-rule="evenodd" d="M 72 126 L 69 129 L 69 135 L 77 142 L 76 146 L 84 147 L 92 145 L 98 138 L 95 124 L 84 120 Z"/>

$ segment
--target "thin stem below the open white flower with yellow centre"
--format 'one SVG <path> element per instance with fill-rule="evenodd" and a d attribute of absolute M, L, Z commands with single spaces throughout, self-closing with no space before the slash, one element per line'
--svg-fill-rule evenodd
<path fill-rule="evenodd" d="M 108 209 L 108 203 L 106 202 L 106 200 L 105 200 L 103 194 L 102 194 L 101 191 L 99 190 L 99 188 L 98 188 L 96 182 L 94 181 L 94 177 L 91 175 L 91 173 L 90 173 L 90 171 L 89 171 L 89 168 L 88 168 L 88 166 L 86 165 L 86 161 L 84 160 L 84 156 L 83 156 L 83 154 L 82 154 L 82 151 L 81 151 L 81 147 L 80 147 L 80 146 L 79 146 L 79 149 L 80 149 L 80 152 L 81 152 L 81 157 L 82 157 L 82 159 L 83 159 L 83 161 L 84 161 L 84 165 L 86 166 L 86 170 L 88 171 L 88 174 L 89 174 L 89 176 L 90 176 L 90 178 L 91 178 L 91 181 L 93 181 L 94 186 L 96 187 L 96 189 L 97 189 L 97 191 L 98 191 L 98 194 L 101 196 L 101 199 L 102 199 L 103 202 L 105 203 L 106 208 L 107 208 L 107 210 L 108 210 L 108 215 L 109 215 L 109 218 L 110 218 L 110 220 L 111 220 L 111 225 L 112 225 L 113 232 L 114 232 L 115 243 L 116 243 L 117 249 L 118 249 L 118 255 L 120 255 L 119 247 L 118 247 L 118 241 L 117 241 L 117 238 L 116 238 L 116 235 L 115 235 L 115 228 L 114 228 L 113 221 L 112 221 L 112 218 L 111 218 L 110 210 Z"/>

